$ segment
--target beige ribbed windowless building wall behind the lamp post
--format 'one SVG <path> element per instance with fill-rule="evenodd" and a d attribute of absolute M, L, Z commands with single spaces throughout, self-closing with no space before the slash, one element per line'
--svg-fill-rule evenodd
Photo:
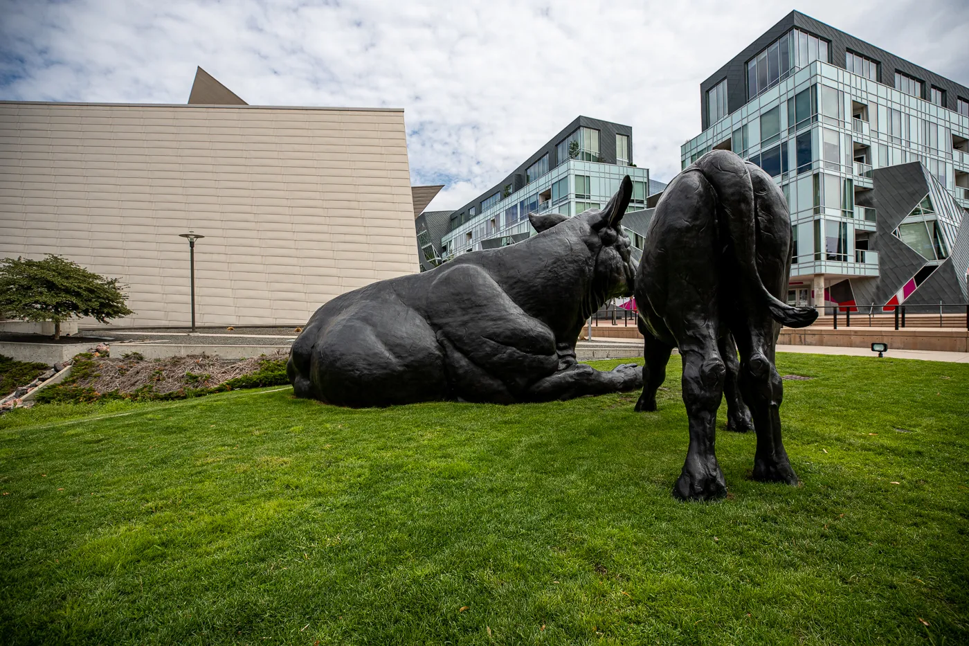
<path fill-rule="evenodd" d="M 0 256 L 130 287 L 117 325 L 302 324 L 418 271 L 403 111 L 0 102 Z"/>

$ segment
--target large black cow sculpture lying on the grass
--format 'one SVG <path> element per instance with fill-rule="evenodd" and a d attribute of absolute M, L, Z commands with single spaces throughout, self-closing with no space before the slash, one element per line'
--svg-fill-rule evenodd
<path fill-rule="evenodd" d="M 631 193 L 626 177 L 603 210 L 532 214 L 533 238 L 328 302 L 293 344 L 287 373 L 297 397 L 512 404 L 641 388 L 636 365 L 602 372 L 576 361 L 585 319 L 633 293 L 636 267 L 619 226 Z"/>

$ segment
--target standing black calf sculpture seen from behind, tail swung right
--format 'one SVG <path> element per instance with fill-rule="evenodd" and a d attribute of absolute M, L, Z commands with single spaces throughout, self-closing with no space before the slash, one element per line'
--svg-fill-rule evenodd
<path fill-rule="evenodd" d="M 713 450 L 725 386 L 728 428 L 749 428 L 744 402 L 753 416 L 754 479 L 797 484 L 781 442 L 783 388 L 774 351 L 780 324 L 804 327 L 818 312 L 781 302 L 790 273 L 787 202 L 764 171 L 714 150 L 673 178 L 649 223 L 636 276 L 645 338 L 645 386 L 636 409 L 656 410 L 656 390 L 678 347 L 690 446 L 676 498 L 727 493 Z"/>

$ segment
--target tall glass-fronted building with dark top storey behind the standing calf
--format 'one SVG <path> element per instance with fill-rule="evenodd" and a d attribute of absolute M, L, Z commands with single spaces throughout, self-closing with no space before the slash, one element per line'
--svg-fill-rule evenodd
<path fill-rule="evenodd" d="M 732 95 L 747 100 L 712 120 L 680 150 L 686 168 L 711 149 L 731 149 L 781 186 L 795 240 L 789 300 L 798 305 L 820 305 L 822 284 L 827 288 L 844 279 L 858 282 L 882 274 L 886 259 L 879 258 L 884 245 L 877 243 L 878 196 L 873 190 L 879 169 L 919 162 L 950 194 L 959 212 L 949 217 L 945 236 L 943 224 L 932 223 L 939 205 L 892 232 L 914 244 L 930 263 L 951 253 L 947 241 L 952 246 L 963 209 L 969 209 L 969 116 L 959 113 L 962 104 L 947 102 L 944 89 L 934 84 L 947 80 L 930 85 L 910 69 L 889 69 L 887 63 L 894 61 L 886 61 L 886 55 L 879 60 L 881 50 L 848 49 L 839 42 L 841 32 L 817 24 L 826 33 L 798 26 L 776 38 L 762 37 L 763 48 L 748 48 L 739 57 L 742 81 L 728 66 L 721 71 L 726 79 L 718 81 L 715 75 L 704 82 L 710 87 L 727 83 Z M 834 55 L 835 46 L 844 52 Z M 741 60 L 734 62 L 739 67 Z M 732 79 L 743 86 L 730 89 Z M 969 94 L 948 82 L 958 93 Z M 704 119 L 717 115 L 704 111 Z"/>

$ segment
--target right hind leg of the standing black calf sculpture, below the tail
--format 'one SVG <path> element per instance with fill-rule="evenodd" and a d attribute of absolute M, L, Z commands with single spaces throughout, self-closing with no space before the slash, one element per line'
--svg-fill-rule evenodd
<path fill-rule="evenodd" d="M 753 478 L 796 485 L 797 475 L 781 441 L 784 387 L 774 368 L 775 323 L 766 311 L 752 318 L 746 326 L 747 334 L 736 339 L 740 346 L 740 389 L 750 404 L 757 432 Z"/>

